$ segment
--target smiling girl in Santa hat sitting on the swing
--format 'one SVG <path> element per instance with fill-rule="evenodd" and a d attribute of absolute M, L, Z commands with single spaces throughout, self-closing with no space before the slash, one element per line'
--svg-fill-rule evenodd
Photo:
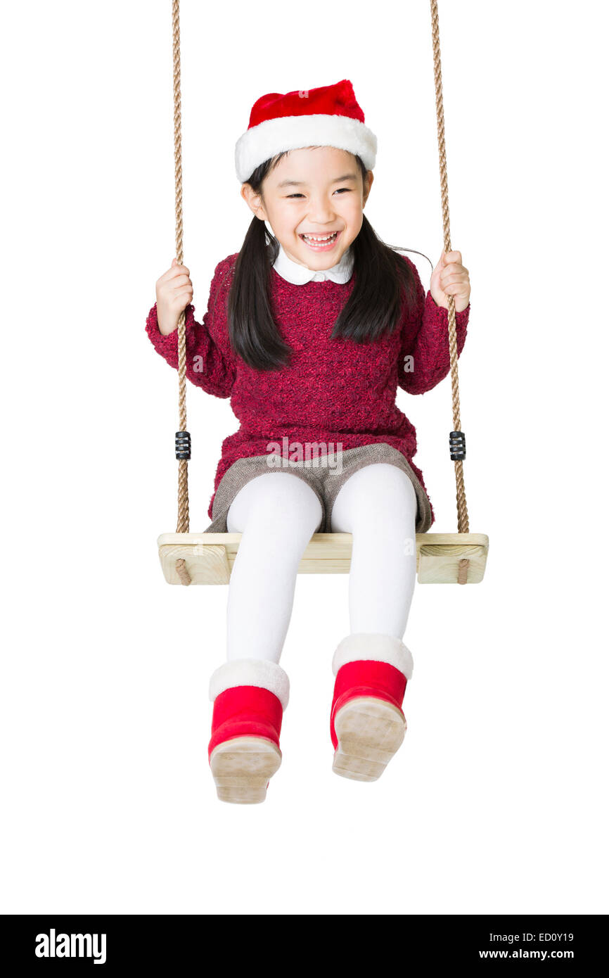
<path fill-rule="evenodd" d="M 353 534 L 350 634 L 332 658 L 333 770 L 375 780 L 406 730 L 414 537 L 434 514 L 396 391 L 422 394 L 446 377 L 448 296 L 460 354 L 470 286 L 451 251 L 425 294 L 413 262 L 372 230 L 376 137 L 364 121 L 347 79 L 258 99 L 236 147 L 254 215 L 240 251 L 216 265 L 202 324 L 175 258 L 147 319 L 177 369 L 186 310 L 187 377 L 231 397 L 240 422 L 222 443 L 205 530 L 242 534 L 227 661 L 209 689 L 209 764 L 224 801 L 264 801 L 281 764 L 289 685 L 279 662 L 313 533 Z"/>

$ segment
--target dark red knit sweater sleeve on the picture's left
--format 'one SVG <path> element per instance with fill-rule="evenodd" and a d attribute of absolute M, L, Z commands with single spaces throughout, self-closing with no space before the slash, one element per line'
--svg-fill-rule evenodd
<path fill-rule="evenodd" d="M 189 303 L 185 309 L 186 332 L 186 376 L 196 387 L 202 387 L 208 394 L 216 397 L 230 397 L 235 382 L 235 363 L 225 356 L 214 341 L 209 326 L 213 319 L 216 303 L 222 292 L 222 262 L 216 265 L 209 289 L 207 312 L 202 323 L 195 320 L 195 306 Z M 156 303 L 152 306 L 146 321 L 152 346 L 170 367 L 178 369 L 178 331 L 164 335 L 158 329 Z"/>

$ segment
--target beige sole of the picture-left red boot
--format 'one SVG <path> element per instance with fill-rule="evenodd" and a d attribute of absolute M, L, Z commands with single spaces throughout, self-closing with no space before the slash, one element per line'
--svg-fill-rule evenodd
<path fill-rule="evenodd" d="M 209 766 L 220 801 L 256 805 L 267 796 L 269 778 L 279 770 L 282 754 L 272 740 L 238 736 L 214 747 Z"/>

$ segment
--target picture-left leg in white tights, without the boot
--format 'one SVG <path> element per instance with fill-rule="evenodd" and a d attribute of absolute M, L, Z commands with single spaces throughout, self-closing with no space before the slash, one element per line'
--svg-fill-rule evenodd
<path fill-rule="evenodd" d="M 291 472 L 265 472 L 239 490 L 227 515 L 241 533 L 229 585 L 227 659 L 279 662 L 300 558 L 322 519 L 322 505 Z"/>

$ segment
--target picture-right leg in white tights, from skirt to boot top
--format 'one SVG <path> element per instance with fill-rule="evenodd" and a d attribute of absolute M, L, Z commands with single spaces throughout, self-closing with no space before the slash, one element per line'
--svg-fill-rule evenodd
<path fill-rule="evenodd" d="M 351 631 L 402 639 L 416 579 L 416 494 L 401 468 L 373 463 L 340 487 L 334 533 L 353 534 L 349 575 Z"/>

